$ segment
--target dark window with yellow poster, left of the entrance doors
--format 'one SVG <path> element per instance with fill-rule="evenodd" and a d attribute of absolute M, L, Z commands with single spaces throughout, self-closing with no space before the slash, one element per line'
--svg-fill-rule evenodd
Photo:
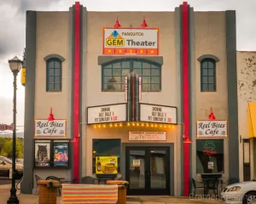
<path fill-rule="evenodd" d="M 115 160 L 117 157 L 117 172 L 120 173 L 120 139 L 93 139 L 92 140 L 92 173 L 96 173 L 96 167 L 98 164 L 97 173 L 110 173 L 109 168 L 106 167 L 106 162 L 101 162 L 102 158 L 108 161 L 108 157 L 113 157 Z M 107 159 L 106 159 L 107 158 Z M 99 162 L 100 161 L 100 162 Z M 110 164 L 111 161 L 109 161 Z M 108 163 L 108 162 L 107 162 Z M 107 164 L 108 166 L 108 164 Z"/>

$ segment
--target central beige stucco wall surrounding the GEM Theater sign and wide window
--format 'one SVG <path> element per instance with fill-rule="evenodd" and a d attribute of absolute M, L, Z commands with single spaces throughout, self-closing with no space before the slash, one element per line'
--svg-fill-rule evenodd
<path fill-rule="evenodd" d="M 88 106 L 108 105 L 125 102 L 125 93 L 102 92 L 102 69 L 97 65 L 97 57 L 102 55 L 102 28 L 112 27 L 116 15 L 122 27 L 139 27 L 142 12 L 88 12 L 87 39 L 87 89 Z M 162 66 L 162 90 L 159 93 L 144 93 L 143 103 L 177 105 L 175 19 L 174 12 L 146 13 L 148 27 L 160 29 L 160 55 L 164 57 Z M 136 57 L 136 56 L 135 56 Z M 91 86 L 93 84 L 93 86 Z M 170 88 L 172 91 L 170 92 Z"/>

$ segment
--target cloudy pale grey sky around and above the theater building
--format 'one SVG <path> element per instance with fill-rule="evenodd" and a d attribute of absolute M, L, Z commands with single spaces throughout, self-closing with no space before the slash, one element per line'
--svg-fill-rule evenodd
<path fill-rule="evenodd" d="M 188 0 L 195 11 L 236 10 L 237 50 L 256 51 L 255 0 Z M 20 59 L 26 45 L 26 10 L 67 11 L 73 0 L 0 0 L 0 124 L 13 122 L 13 75 L 8 59 Z M 81 0 L 89 11 L 174 11 L 180 0 Z M 114 22 L 113 22 L 114 23 Z M 156 26 L 156 25 L 155 25 Z M 17 78 L 17 126 L 24 125 L 25 88 Z"/>

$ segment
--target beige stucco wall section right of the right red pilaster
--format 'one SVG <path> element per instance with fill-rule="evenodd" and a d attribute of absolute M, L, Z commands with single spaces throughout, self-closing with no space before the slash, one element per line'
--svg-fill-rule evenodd
<path fill-rule="evenodd" d="M 198 120 L 208 119 L 211 106 L 216 119 L 228 118 L 225 35 L 225 12 L 195 12 L 195 114 Z M 216 92 L 201 92 L 201 64 L 197 59 L 204 54 L 212 54 L 219 59 L 216 63 Z M 228 139 L 224 139 L 223 177 L 228 177 L 229 173 L 228 148 Z M 196 172 L 195 168 L 196 165 L 193 172 Z M 200 179 L 201 175 L 196 177 Z"/>

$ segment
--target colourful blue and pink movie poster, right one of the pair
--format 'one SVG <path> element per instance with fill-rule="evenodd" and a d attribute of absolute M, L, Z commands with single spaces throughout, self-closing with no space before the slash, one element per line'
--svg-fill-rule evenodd
<path fill-rule="evenodd" d="M 68 143 L 54 142 L 54 167 L 68 167 Z"/>

